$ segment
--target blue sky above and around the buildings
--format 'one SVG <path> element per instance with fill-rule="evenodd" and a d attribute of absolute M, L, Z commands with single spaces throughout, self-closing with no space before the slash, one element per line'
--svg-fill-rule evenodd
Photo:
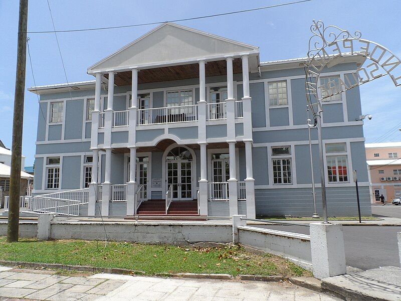
<path fill-rule="evenodd" d="M 270 1 L 133 1 L 133 0 L 50 0 L 57 30 L 119 26 L 169 21 L 226 13 L 286 3 Z M 15 88 L 19 1 L 0 1 L 0 139 L 11 147 Z M 308 3 L 244 14 L 180 22 L 184 26 L 210 32 L 260 47 L 261 61 L 306 56 L 309 27 L 313 19 L 350 31 L 360 30 L 362 38 L 375 41 L 401 56 L 401 2 L 399 0 L 314 0 Z M 87 67 L 135 40 L 155 26 L 96 32 L 58 34 L 68 81 L 94 79 Z M 30 0 L 28 31 L 52 30 L 46 0 Z M 32 63 L 37 85 L 66 81 L 54 34 L 29 34 Z M 33 86 L 27 61 L 26 87 Z M 363 113 L 373 115 L 365 121 L 364 134 L 372 142 L 401 122 L 401 87 L 388 77 L 360 87 Z M 38 119 L 38 99 L 26 92 L 23 154 L 32 165 Z M 397 127 L 401 127 L 397 126 Z M 394 131 L 383 141 L 401 140 Z"/>

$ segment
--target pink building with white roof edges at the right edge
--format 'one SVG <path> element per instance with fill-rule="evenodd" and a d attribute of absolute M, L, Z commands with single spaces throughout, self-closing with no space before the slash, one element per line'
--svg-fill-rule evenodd
<path fill-rule="evenodd" d="M 387 203 L 401 197 L 401 142 L 365 143 L 370 200 Z"/>

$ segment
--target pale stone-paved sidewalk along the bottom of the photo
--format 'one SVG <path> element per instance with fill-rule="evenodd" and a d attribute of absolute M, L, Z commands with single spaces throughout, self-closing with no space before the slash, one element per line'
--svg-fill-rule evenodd
<path fill-rule="evenodd" d="M 340 299 L 288 282 L 143 277 L 95 274 L 67 277 L 48 270 L 0 267 L 0 300 L 27 298 L 53 301 L 128 300 L 308 300 Z"/>

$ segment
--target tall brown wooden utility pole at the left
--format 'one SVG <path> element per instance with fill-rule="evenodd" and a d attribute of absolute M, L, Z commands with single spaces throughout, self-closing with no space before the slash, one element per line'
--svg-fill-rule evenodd
<path fill-rule="evenodd" d="M 22 128 L 24 122 L 25 65 L 27 59 L 27 24 L 28 0 L 20 0 L 16 90 L 14 96 L 13 145 L 11 148 L 9 223 L 7 229 L 8 242 L 18 241 L 20 222 L 21 156 Z"/>

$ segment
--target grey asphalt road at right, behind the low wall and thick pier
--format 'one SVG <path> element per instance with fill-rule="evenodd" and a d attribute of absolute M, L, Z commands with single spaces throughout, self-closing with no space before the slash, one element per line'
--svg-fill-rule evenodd
<path fill-rule="evenodd" d="M 262 227 L 309 234 L 309 227 L 304 226 Z M 345 226 L 343 232 L 347 265 L 363 270 L 379 266 L 399 266 L 397 232 L 401 232 L 401 227 Z"/>

